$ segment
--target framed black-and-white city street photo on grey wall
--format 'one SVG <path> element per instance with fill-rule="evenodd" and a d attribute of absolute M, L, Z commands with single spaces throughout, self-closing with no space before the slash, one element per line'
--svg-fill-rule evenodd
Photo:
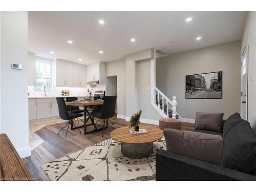
<path fill-rule="evenodd" d="M 222 72 L 186 75 L 186 99 L 221 99 Z"/>

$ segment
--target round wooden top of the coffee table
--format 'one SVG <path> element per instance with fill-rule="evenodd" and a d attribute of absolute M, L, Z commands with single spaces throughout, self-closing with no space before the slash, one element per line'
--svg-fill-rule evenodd
<path fill-rule="evenodd" d="M 112 139 L 121 143 L 149 143 L 154 142 L 163 137 L 163 131 L 155 126 L 139 126 L 140 129 L 145 129 L 146 134 L 136 134 L 132 135 L 129 131 L 129 126 L 120 127 L 111 132 L 110 136 Z M 133 127 L 130 127 L 133 129 Z"/>

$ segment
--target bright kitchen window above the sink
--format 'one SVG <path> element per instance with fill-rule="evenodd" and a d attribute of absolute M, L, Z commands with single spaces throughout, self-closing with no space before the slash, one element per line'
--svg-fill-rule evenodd
<path fill-rule="evenodd" d="M 49 61 L 36 60 L 35 62 L 35 88 L 36 92 L 52 93 L 52 63 Z M 45 86 L 45 89 L 44 89 Z"/>

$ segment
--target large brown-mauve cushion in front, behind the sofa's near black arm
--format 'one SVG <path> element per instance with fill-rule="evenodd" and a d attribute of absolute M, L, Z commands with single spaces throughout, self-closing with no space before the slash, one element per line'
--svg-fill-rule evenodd
<path fill-rule="evenodd" d="M 220 135 L 165 129 L 164 137 L 167 151 L 220 164 L 223 145 Z"/>

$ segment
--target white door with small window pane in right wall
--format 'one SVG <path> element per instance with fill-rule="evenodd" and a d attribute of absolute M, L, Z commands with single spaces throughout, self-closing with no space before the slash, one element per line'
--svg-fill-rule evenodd
<path fill-rule="evenodd" d="M 248 45 L 248 44 L 247 44 Z M 241 118 L 247 120 L 247 81 L 248 81 L 248 57 L 247 48 L 243 51 L 241 62 Z"/>

